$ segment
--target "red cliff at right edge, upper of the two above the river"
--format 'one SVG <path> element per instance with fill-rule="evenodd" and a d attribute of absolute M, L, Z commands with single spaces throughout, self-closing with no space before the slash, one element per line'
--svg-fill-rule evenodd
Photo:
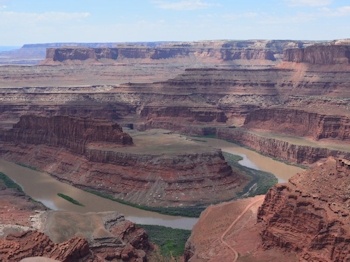
<path fill-rule="evenodd" d="M 350 139 L 349 117 L 324 115 L 298 109 L 254 110 L 247 115 L 244 126 L 294 136 L 307 136 L 315 140 L 323 138 Z"/>

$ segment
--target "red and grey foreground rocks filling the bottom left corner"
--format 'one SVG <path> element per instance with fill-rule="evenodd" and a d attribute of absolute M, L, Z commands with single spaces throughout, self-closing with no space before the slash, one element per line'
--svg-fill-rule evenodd
<path fill-rule="evenodd" d="M 1 185 L 0 193 L 0 261 L 141 262 L 153 252 L 145 230 L 118 212 L 45 211 L 17 189 Z"/>

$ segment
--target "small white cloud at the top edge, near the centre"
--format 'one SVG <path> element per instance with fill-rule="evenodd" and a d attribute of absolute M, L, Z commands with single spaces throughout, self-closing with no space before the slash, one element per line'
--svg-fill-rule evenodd
<path fill-rule="evenodd" d="M 218 6 L 218 4 L 209 4 L 202 2 L 202 0 L 181 0 L 178 2 L 154 0 L 152 3 L 154 3 L 157 8 L 172 10 L 196 10 L 209 8 L 214 5 Z"/>

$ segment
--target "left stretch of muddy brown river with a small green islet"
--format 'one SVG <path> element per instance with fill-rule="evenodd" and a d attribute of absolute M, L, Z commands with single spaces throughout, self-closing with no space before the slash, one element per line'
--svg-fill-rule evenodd
<path fill-rule="evenodd" d="M 0 159 L 0 172 L 19 184 L 27 195 L 41 201 L 53 210 L 80 213 L 118 211 L 124 214 L 126 219 L 138 224 L 161 225 L 181 229 L 192 229 L 198 220 L 197 218 L 166 216 L 123 205 L 62 183 L 47 173 L 34 171 L 3 159 Z M 63 193 L 78 200 L 84 207 L 62 199 L 57 196 L 57 193 Z"/>

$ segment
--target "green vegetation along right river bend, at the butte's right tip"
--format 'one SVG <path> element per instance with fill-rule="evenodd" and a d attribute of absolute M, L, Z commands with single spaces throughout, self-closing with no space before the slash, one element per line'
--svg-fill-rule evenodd
<path fill-rule="evenodd" d="M 248 176 L 251 179 L 239 194 L 240 197 L 252 197 L 256 195 L 266 194 L 266 192 L 278 182 L 278 179 L 269 172 L 255 170 L 240 165 L 238 161 L 243 159 L 241 156 L 229 154 L 226 152 L 223 152 L 222 154 L 234 171 L 237 173 L 243 172 L 244 175 Z"/>

